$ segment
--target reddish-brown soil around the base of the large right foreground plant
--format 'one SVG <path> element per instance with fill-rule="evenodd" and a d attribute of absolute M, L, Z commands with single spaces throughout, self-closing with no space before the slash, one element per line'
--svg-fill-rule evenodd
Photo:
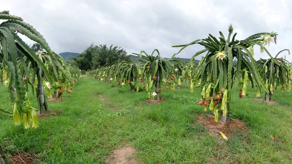
<path fill-rule="evenodd" d="M 234 132 L 238 129 L 240 132 L 247 132 L 248 128 L 241 120 L 234 119 L 232 122 L 215 122 L 215 116 L 211 114 L 199 114 L 199 122 L 207 128 L 209 134 L 216 134 L 223 140 L 220 131 L 226 135 L 227 138 L 232 137 Z"/>

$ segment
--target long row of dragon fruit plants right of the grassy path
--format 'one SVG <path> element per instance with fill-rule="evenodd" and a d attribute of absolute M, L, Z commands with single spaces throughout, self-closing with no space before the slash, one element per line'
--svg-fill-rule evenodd
<path fill-rule="evenodd" d="M 266 49 L 270 44 L 276 44 L 277 33 L 258 33 L 244 40 L 237 40 L 233 35 L 233 26 L 228 27 L 227 39 L 219 32 L 216 38 L 209 34 L 207 38 L 198 39 L 181 47 L 200 44 L 203 48 L 198 51 L 187 63 L 161 57 L 155 49 L 150 55 L 141 51 L 139 62 L 120 62 L 112 66 L 91 70 L 87 74 L 93 78 L 106 82 L 116 82 L 118 86 L 130 86 L 131 91 L 139 91 L 138 83 L 146 89 L 148 98 L 160 100 L 165 89 L 181 89 L 182 82 L 189 85 L 190 92 L 194 91 L 194 85 L 201 87 L 200 105 L 204 110 L 208 108 L 215 114 L 215 121 L 227 121 L 227 112 L 230 109 L 231 89 L 233 86 L 239 90 L 238 96 L 242 98 L 248 95 L 247 87 L 256 87 L 259 97 L 265 93 L 265 100 L 271 101 L 273 92 L 277 88 L 290 91 L 292 85 L 292 64 L 286 60 L 286 56 L 279 56 L 289 49 L 284 49 L 275 55 L 271 55 Z M 254 53 L 254 47 L 258 47 L 259 54 Z M 256 55 L 267 54 L 269 59 L 255 59 Z M 194 66 L 194 59 L 201 55 L 198 66 Z M 281 54 L 282 55 L 282 54 Z M 197 93 L 199 94 L 199 93 Z"/>

